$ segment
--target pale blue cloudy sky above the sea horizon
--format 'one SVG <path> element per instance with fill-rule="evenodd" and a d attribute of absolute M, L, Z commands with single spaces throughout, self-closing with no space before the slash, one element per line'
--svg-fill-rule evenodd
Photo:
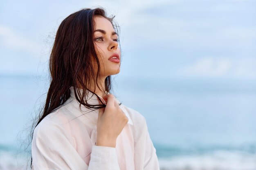
<path fill-rule="evenodd" d="M 122 77 L 256 80 L 256 0 L 0 0 L 0 75 L 45 75 L 59 24 L 104 7 Z"/>

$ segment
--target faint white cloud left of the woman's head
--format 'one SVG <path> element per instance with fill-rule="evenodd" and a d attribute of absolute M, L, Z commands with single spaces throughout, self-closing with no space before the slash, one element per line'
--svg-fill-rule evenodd
<path fill-rule="evenodd" d="M 20 35 L 8 26 L 0 26 L 0 44 L 13 50 L 29 52 L 36 58 L 39 57 L 42 49 L 39 43 Z"/>

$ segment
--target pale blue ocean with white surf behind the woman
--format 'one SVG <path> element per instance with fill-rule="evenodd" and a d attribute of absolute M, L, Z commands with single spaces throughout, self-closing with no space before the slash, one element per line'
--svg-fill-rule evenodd
<path fill-rule="evenodd" d="M 146 118 L 161 170 L 256 170 L 256 81 L 116 76 L 113 85 Z M 47 77 L 0 75 L 0 170 L 29 164 L 47 87 Z"/>

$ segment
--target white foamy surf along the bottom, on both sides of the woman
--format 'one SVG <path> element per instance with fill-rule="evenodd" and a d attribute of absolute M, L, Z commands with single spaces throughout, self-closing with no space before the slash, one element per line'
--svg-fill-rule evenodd
<path fill-rule="evenodd" d="M 160 170 L 256 170 L 256 154 L 234 151 L 158 159 Z M 30 170 L 29 163 L 26 155 L 0 152 L 0 170 Z"/>

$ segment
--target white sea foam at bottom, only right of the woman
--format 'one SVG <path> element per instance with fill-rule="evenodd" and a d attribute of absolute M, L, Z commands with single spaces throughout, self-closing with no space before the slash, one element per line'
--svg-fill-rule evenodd
<path fill-rule="evenodd" d="M 160 170 L 256 170 L 256 155 L 216 151 L 208 155 L 159 159 Z"/>

